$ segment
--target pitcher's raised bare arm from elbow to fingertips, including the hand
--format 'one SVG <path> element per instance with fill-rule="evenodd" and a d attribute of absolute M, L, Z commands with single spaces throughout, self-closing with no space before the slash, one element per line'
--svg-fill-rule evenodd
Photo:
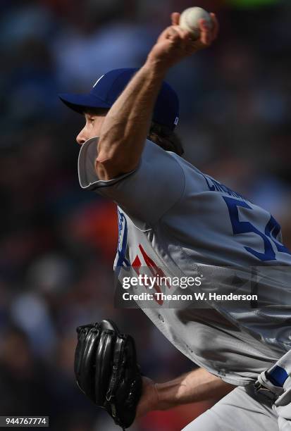
<path fill-rule="evenodd" d="M 215 15 L 211 17 L 212 28 L 201 20 L 201 37 L 192 41 L 190 32 L 178 25 L 180 14 L 172 13 L 172 25 L 161 33 L 147 61 L 106 115 L 96 160 L 99 180 L 111 180 L 137 168 L 163 78 L 172 65 L 213 42 L 218 23 Z"/>

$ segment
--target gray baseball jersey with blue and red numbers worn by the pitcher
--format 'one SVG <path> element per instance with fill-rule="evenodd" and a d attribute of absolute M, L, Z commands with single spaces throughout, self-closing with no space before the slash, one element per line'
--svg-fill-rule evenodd
<path fill-rule="evenodd" d="M 144 309 L 192 361 L 225 382 L 248 385 L 290 349 L 291 284 L 281 268 L 290 267 L 291 255 L 280 226 L 268 211 L 149 140 L 136 170 L 99 180 L 94 170 L 97 139 L 82 145 L 79 180 L 83 189 L 118 205 L 115 268 L 151 265 L 178 277 L 205 270 L 213 285 L 221 268 L 229 266 L 271 271 L 256 283 L 265 308 L 245 301 L 169 308 L 165 301 Z M 231 292 L 233 282 L 223 280 L 222 291 Z"/>

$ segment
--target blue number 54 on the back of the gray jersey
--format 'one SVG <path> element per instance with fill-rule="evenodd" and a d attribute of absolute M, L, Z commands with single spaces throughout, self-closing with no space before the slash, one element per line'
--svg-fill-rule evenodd
<path fill-rule="evenodd" d="M 238 206 L 242 206 L 243 208 L 248 208 L 252 210 L 253 208 L 249 206 L 246 202 L 240 201 L 238 199 L 233 199 L 230 197 L 223 196 L 223 199 L 225 200 L 225 204 L 228 206 L 228 211 L 230 213 L 230 221 L 233 226 L 233 234 L 241 234 L 241 233 L 247 233 L 247 232 L 254 232 L 254 234 L 259 235 L 261 239 L 264 241 L 264 253 L 260 253 L 259 251 L 256 251 L 252 249 L 251 247 L 244 247 L 249 253 L 256 256 L 256 258 L 259 258 L 260 261 L 275 261 L 275 251 L 273 249 L 273 244 L 275 244 L 275 247 L 278 251 L 281 251 L 282 253 L 290 254 L 290 251 L 285 247 L 283 244 L 278 242 L 277 236 L 280 233 L 280 225 L 278 222 L 273 218 L 271 215 L 270 220 L 268 221 L 268 224 L 266 225 L 265 232 L 261 232 L 259 229 L 256 229 L 252 223 L 240 221 L 238 217 Z M 270 241 L 271 239 L 271 241 Z"/>

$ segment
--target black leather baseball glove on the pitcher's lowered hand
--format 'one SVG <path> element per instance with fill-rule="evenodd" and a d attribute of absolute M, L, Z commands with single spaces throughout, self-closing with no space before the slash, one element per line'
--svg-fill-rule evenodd
<path fill-rule="evenodd" d="M 130 427 L 142 394 L 135 340 L 120 334 L 111 320 L 79 326 L 77 333 L 74 369 L 78 386 L 123 430 Z"/>

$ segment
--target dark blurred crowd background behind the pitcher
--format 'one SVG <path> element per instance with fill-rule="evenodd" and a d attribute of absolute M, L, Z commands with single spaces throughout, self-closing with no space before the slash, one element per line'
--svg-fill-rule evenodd
<path fill-rule="evenodd" d="M 106 317 L 135 337 L 145 375 L 194 367 L 142 311 L 113 308 L 116 209 L 80 189 L 83 118 L 57 96 L 142 65 L 170 13 L 189 6 L 216 12 L 221 33 L 168 73 L 185 158 L 271 211 L 291 246 L 290 1 L 1 0 L 0 415 L 116 430 L 73 377 L 75 327 Z M 132 430 L 178 431 L 210 404 Z"/>

